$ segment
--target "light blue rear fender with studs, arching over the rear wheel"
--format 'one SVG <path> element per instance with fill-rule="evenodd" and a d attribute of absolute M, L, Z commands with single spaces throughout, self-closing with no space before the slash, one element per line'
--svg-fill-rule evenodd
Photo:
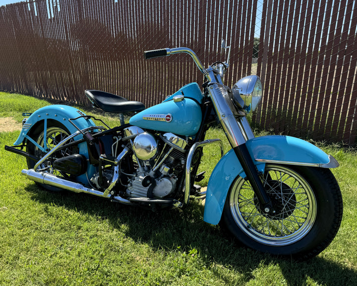
<path fill-rule="evenodd" d="M 26 120 L 26 123 L 22 126 L 21 133 L 17 138 L 14 145 L 20 145 L 30 130 L 36 125 L 36 123 L 48 119 L 56 120 L 62 123 L 70 133 L 74 133 L 77 129 L 68 121 L 70 118 L 76 118 L 78 116 L 85 115 L 79 109 L 66 105 L 49 105 L 36 110 L 31 116 Z M 90 126 L 95 126 L 92 120 L 87 120 L 84 118 L 79 118 L 75 121 L 75 124 L 80 129 L 84 129 Z M 78 136 L 78 139 L 81 135 Z M 76 137 L 77 139 L 77 137 Z"/>

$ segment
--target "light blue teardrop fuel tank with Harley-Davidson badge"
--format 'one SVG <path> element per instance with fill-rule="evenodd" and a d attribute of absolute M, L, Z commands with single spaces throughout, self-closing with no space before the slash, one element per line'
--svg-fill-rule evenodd
<path fill-rule="evenodd" d="M 144 129 L 194 136 L 202 121 L 202 99 L 198 84 L 190 83 L 162 103 L 134 115 L 129 123 Z"/>

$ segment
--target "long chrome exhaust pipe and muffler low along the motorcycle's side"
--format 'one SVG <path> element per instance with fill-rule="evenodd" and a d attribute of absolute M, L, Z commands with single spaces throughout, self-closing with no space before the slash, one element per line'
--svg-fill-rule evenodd
<path fill-rule="evenodd" d="M 23 169 L 21 171 L 21 174 L 25 175 L 28 179 L 40 184 L 58 187 L 75 193 L 87 193 L 97 197 L 112 199 L 114 202 L 118 202 L 122 204 L 131 204 L 130 201 L 125 200 L 119 196 L 112 198 L 111 194 L 106 195 L 98 190 L 87 188 L 79 183 L 62 179 L 50 173 L 35 172 L 34 169 L 29 169 L 29 170 Z"/>

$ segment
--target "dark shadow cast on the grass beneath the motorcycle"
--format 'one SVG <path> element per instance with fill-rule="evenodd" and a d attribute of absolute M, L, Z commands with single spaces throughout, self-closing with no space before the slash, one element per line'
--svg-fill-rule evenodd
<path fill-rule="evenodd" d="M 55 204 L 68 210 L 90 214 L 101 221 L 105 219 L 113 228 L 119 229 L 120 225 L 125 224 L 124 235 L 137 243 L 148 244 L 154 251 L 169 254 L 176 250 L 189 253 L 196 249 L 207 268 L 213 263 L 220 264 L 243 275 L 246 282 L 254 279 L 255 269 L 277 265 L 289 286 L 306 285 L 308 279 L 327 286 L 357 285 L 357 273 L 336 262 L 319 257 L 296 262 L 240 247 L 227 239 L 219 226 L 203 221 L 204 208 L 199 202 L 193 201 L 183 210 L 171 209 L 153 213 L 85 194 L 48 192 L 34 184 L 29 185 L 27 191 L 39 203 Z M 213 273 L 218 278 L 225 279 L 216 269 L 212 268 Z M 232 284 L 232 281 L 226 283 Z"/>

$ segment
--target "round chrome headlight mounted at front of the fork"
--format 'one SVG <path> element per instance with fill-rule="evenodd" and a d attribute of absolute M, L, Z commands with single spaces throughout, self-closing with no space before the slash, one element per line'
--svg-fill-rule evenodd
<path fill-rule="evenodd" d="M 262 84 L 257 75 L 248 75 L 239 79 L 232 90 L 237 102 L 243 99 L 243 108 L 247 112 L 255 110 L 263 95 Z"/>

